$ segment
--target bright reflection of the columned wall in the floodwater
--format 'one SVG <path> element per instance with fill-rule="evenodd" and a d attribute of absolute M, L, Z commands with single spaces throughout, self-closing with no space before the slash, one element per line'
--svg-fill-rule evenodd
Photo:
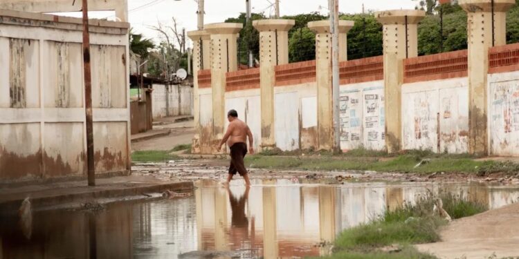
<path fill-rule="evenodd" d="M 370 222 L 385 209 L 396 209 L 404 202 L 413 204 L 428 193 L 448 191 L 491 208 L 519 198 L 519 191 L 511 193 L 485 186 L 440 187 L 432 183 L 327 186 L 265 180 L 255 185 L 248 193 L 244 209 L 248 218 L 246 231 L 233 226 L 233 213 L 237 211 L 229 202 L 230 195 L 241 198 L 244 187 L 231 186 L 230 192 L 226 193 L 224 189 L 208 184 L 197 191 L 197 195 L 201 195 L 197 200 L 202 204 L 199 210 L 203 211 L 203 215 L 197 217 L 203 240 L 199 249 L 241 251 L 245 257 L 319 256 L 325 250 L 321 251 L 315 244 L 322 240 L 333 241 L 343 229 Z"/>

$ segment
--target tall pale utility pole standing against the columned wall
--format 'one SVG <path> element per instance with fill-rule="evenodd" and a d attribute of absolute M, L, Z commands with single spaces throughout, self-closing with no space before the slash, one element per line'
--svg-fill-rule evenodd
<path fill-rule="evenodd" d="M 334 104 L 334 151 L 340 151 L 339 115 L 339 0 L 328 0 L 331 32 L 331 85 Z"/>

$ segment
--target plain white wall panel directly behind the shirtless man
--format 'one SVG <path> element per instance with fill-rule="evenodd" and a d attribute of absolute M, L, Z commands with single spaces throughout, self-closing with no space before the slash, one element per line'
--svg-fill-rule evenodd
<path fill-rule="evenodd" d="M 238 112 L 238 118 L 242 119 L 253 133 L 254 148 L 259 150 L 262 143 L 262 110 L 260 90 L 239 90 L 226 93 L 226 113 L 234 109 Z M 226 130 L 229 122 L 226 119 Z M 247 143 L 248 144 L 248 143 Z"/>

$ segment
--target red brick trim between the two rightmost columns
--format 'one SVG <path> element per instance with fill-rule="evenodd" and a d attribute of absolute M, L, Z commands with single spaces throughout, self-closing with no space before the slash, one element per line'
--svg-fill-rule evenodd
<path fill-rule="evenodd" d="M 466 77 L 468 75 L 468 52 L 467 50 L 457 50 L 412 57 L 403 60 L 403 67 L 404 83 Z"/>

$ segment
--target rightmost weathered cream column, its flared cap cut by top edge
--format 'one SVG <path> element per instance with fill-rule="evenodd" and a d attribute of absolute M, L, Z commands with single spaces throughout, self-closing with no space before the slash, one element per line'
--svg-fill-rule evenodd
<path fill-rule="evenodd" d="M 489 73 L 489 48 L 506 44 L 506 12 L 516 1 L 493 0 L 493 8 L 492 0 L 459 0 L 458 3 L 467 12 L 468 152 L 486 155 L 488 154 L 486 87 Z"/>

